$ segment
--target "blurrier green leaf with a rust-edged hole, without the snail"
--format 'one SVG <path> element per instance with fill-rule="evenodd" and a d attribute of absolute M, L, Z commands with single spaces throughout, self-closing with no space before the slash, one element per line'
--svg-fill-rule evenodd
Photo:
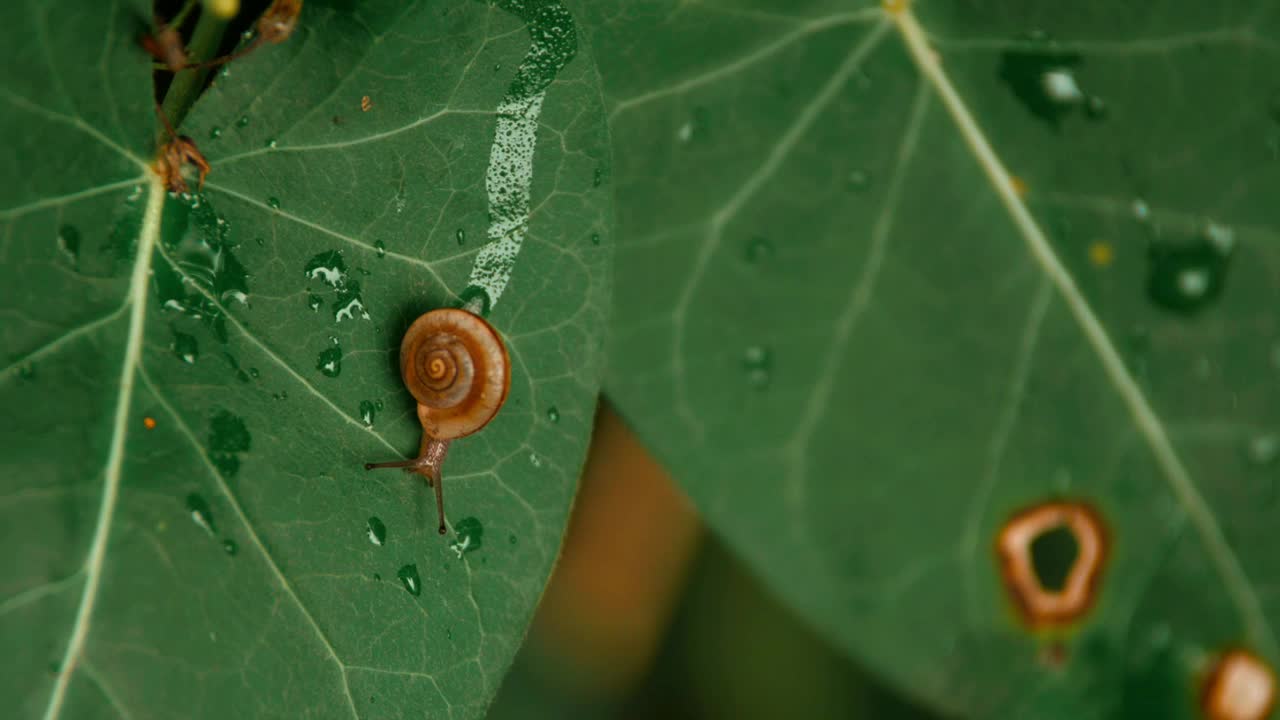
<path fill-rule="evenodd" d="M 584 23 L 618 190 L 607 391 L 783 597 L 979 716 L 1194 715 L 1210 653 L 1280 660 L 1280 12 Z M 993 552 L 1053 498 L 1112 538 L 1056 650 Z"/>

